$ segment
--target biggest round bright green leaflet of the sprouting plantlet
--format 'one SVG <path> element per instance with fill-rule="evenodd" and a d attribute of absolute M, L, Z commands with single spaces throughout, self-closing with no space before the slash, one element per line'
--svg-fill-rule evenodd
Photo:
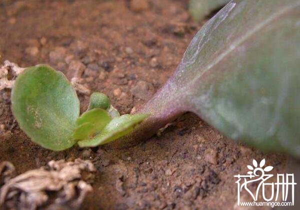
<path fill-rule="evenodd" d="M 79 100 L 65 76 L 47 65 L 26 68 L 12 88 L 12 112 L 20 128 L 52 150 L 71 147 Z"/>

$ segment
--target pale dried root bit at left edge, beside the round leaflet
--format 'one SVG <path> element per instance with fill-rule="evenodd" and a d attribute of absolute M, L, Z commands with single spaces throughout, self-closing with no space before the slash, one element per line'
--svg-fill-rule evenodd
<path fill-rule="evenodd" d="M 25 68 L 21 68 L 13 62 L 5 60 L 4 64 L 0 66 L 0 90 L 4 88 L 11 89 L 16 76 L 20 74 L 24 69 Z M 9 75 L 9 73 L 11 75 Z M 8 77 L 11 77 L 11 79 L 9 79 Z"/>

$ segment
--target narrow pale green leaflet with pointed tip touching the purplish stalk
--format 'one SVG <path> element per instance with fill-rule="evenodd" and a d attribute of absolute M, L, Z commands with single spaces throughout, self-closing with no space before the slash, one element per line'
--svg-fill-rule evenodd
<path fill-rule="evenodd" d="M 147 116 L 149 114 L 124 114 L 115 117 L 101 130 L 101 133 L 92 139 L 80 140 L 78 144 L 80 147 L 84 147 L 108 143 L 131 132 L 134 126 Z"/>

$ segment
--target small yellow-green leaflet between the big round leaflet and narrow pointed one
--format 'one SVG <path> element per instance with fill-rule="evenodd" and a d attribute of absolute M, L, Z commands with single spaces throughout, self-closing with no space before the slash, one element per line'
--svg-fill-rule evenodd
<path fill-rule="evenodd" d="M 76 120 L 76 129 L 74 130 L 74 139 L 85 139 L 89 135 L 99 132 L 111 120 L 107 111 L 102 108 L 93 108 L 84 112 Z"/>

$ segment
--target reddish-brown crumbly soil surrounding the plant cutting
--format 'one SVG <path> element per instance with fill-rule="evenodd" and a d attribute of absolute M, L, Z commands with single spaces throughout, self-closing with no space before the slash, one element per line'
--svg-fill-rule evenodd
<path fill-rule="evenodd" d="M 191 20 L 187 0 L 1 0 L 0 62 L 48 63 L 68 78 L 83 72 L 82 84 L 123 114 L 163 85 L 203 22 Z M 97 172 L 83 209 L 238 209 L 233 175 L 253 158 L 285 171 L 284 155 L 233 142 L 192 113 L 134 147 L 49 151 L 19 129 L 9 98 L 0 91 L 0 161 L 21 173 L 51 159 L 90 159 Z M 83 111 L 88 95 L 79 99 Z"/>

